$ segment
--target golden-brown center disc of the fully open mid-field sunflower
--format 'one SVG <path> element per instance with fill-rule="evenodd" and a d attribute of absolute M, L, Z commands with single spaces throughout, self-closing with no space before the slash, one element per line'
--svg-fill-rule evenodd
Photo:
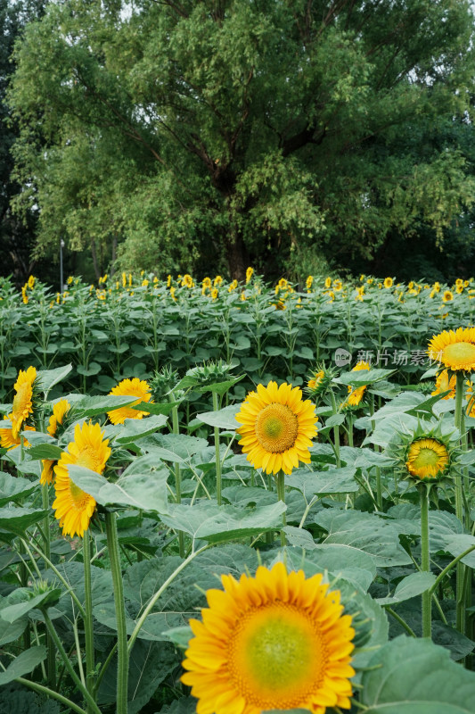
<path fill-rule="evenodd" d="M 268 404 L 256 418 L 258 443 L 266 452 L 291 449 L 299 433 L 299 421 L 285 404 Z"/>

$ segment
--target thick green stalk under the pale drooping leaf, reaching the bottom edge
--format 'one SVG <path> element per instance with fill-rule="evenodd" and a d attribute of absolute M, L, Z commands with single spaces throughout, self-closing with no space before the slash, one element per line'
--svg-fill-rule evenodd
<path fill-rule="evenodd" d="M 116 714 L 127 714 L 127 688 L 128 688 L 128 650 L 126 608 L 124 603 L 124 585 L 122 583 L 122 570 L 120 569 L 119 538 L 117 535 L 117 521 L 115 513 L 106 511 L 105 530 L 107 534 L 107 547 L 111 559 L 112 584 L 114 587 L 114 603 L 117 620 L 117 702 Z"/>

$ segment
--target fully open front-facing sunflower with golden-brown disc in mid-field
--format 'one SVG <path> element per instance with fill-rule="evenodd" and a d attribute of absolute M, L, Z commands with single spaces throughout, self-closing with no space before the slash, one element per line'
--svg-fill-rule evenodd
<path fill-rule="evenodd" d="M 302 390 L 288 384 L 269 382 L 250 392 L 236 420 L 242 436 L 242 452 L 256 468 L 266 473 L 283 469 L 290 474 L 299 461 L 310 463 L 308 447 L 316 435 L 315 406 L 302 401 Z"/>

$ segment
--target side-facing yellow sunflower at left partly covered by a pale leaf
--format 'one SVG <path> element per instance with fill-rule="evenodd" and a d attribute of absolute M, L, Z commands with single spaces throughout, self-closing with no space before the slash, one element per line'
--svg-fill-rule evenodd
<path fill-rule="evenodd" d="M 108 447 L 109 439 L 102 441 L 102 431 L 99 424 L 77 424 L 74 429 L 74 441 L 68 444 L 68 451 L 61 453 L 61 459 L 54 467 L 56 480 L 54 490 L 56 498 L 53 502 L 55 516 L 60 521 L 63 535 L 84 535 L 89 527 L 94 509 L 93 496 L 86 494 L 71 481 L 68 466 L 76 464 L 102 474 L 106 461 L 111 456 Z"/>

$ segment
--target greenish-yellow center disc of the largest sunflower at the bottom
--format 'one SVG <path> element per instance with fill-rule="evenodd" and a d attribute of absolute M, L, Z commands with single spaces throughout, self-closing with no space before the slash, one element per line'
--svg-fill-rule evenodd
<path fill-rule="evenodd" d="M 272 602 L 247 612 L 229 643 L 237 689 L 261 710 L 292 709 L 320 685 L 326 652 L 305 612 Z"/>

